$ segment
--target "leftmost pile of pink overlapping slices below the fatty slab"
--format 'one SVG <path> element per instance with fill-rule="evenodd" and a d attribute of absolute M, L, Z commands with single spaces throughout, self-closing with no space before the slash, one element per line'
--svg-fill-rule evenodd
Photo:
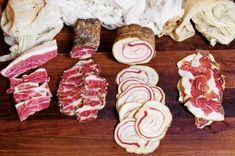
<path fill-rule="evenodd" d="M 44 68 L 37 69 L 30 75 L 23 75 L 22 78 L 10 79 L 7 93 L 13 93 L 20 121 L 49 107 L 52 94 L 48 82 L 48 73 Z"/>

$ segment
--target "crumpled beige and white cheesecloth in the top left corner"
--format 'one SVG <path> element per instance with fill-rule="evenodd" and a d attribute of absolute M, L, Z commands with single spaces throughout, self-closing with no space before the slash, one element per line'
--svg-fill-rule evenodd
<path fill-rule="evenodd" d="M 58 8 L 46 5 L 45 0 L 9 0 L 1 18 L 5 42 L 11 45 L 9 55 L 0 61 L 16 58 L 45 41 L 52 40 L 63 27 Z"/>

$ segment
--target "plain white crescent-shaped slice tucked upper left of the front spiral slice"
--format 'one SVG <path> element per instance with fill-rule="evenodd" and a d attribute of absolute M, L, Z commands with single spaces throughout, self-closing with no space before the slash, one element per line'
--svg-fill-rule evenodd
<path fill-rule="evenodd" d="M 122 121 L 123 119 L 130 117 L 129 114 L 136 109 L 139 109 L 143 104 L 138 102 L 128 102 L 123 104 L 120 108 L 119 113 L 119 120 Z"/>

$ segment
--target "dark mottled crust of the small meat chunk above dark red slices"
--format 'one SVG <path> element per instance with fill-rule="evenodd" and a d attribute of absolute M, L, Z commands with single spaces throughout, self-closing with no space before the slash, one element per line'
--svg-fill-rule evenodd
<path fill-rule="evenodd" d="M 74 47 L 92 47 L 100 45 L 101 22 L 98 19 L 78 19 L 74 27 Z"/>

